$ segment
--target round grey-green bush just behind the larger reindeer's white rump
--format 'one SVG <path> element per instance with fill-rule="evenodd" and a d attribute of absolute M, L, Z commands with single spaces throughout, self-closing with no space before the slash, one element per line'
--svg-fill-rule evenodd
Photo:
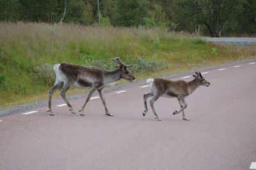
<path fill-rule="evenodd" d="M 41 66 L 33 67 L 33 81 L 39 85 L 51 87 L 55 81 L 55 73 L 51 64 L 45 63 Z"/>

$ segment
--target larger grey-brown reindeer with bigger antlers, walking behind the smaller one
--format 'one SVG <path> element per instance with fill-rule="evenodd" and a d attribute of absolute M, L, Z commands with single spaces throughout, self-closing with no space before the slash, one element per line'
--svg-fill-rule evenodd
<path fill-rule="evenodd" d="M 92 97 L 93 92 L 95 92 L 95 90 L 98 90 L 100 99 L 102 100 L 106 111 L 105 115 L 113 116 L 108 111 L 106 101 L 104 99 L 104 96 L 102 95 L 102 89 L 104 89 L 106 85 L 115 83 L 121 78 L 129 81 L 135 80 L 134 76 L 132 76 L 132 74 L 129 73 L 129 71 L 127 70 L 127 67 L 131 67 L 132 65 L 126 66 L 120 60 L 120 57 L 115 57 L 115 59 L 113 60 L 115 60 L 115 62 L 119 64 L 118 68 L 115 71 L 106 71 L 105 69 L 102 69 L 100 67 L 83 67 L 67 63 L 55 64 L 53 69 L 56 73 L 56 81 L 52 89 L 49 91 L 49 103 L 47 113 L 49 113 L 49 115 L 51 116 L 54 115 L 51 110 L 52 94 L 62 86 L 60 95 L 64 99 L 65 103 L 67 103 L 71 113 L 76 114 L 71 104 L 68 102 L 67 97 L 65 96 L 70 86 L 73 86 L 79 89 L 90 87 L 88 96 L 86 97 L 86 101 L 79 110 L 80 115 L 84 116 L 84 107 L 86 106 L 86 103 L 88 103 L 90 97 Z"/>

